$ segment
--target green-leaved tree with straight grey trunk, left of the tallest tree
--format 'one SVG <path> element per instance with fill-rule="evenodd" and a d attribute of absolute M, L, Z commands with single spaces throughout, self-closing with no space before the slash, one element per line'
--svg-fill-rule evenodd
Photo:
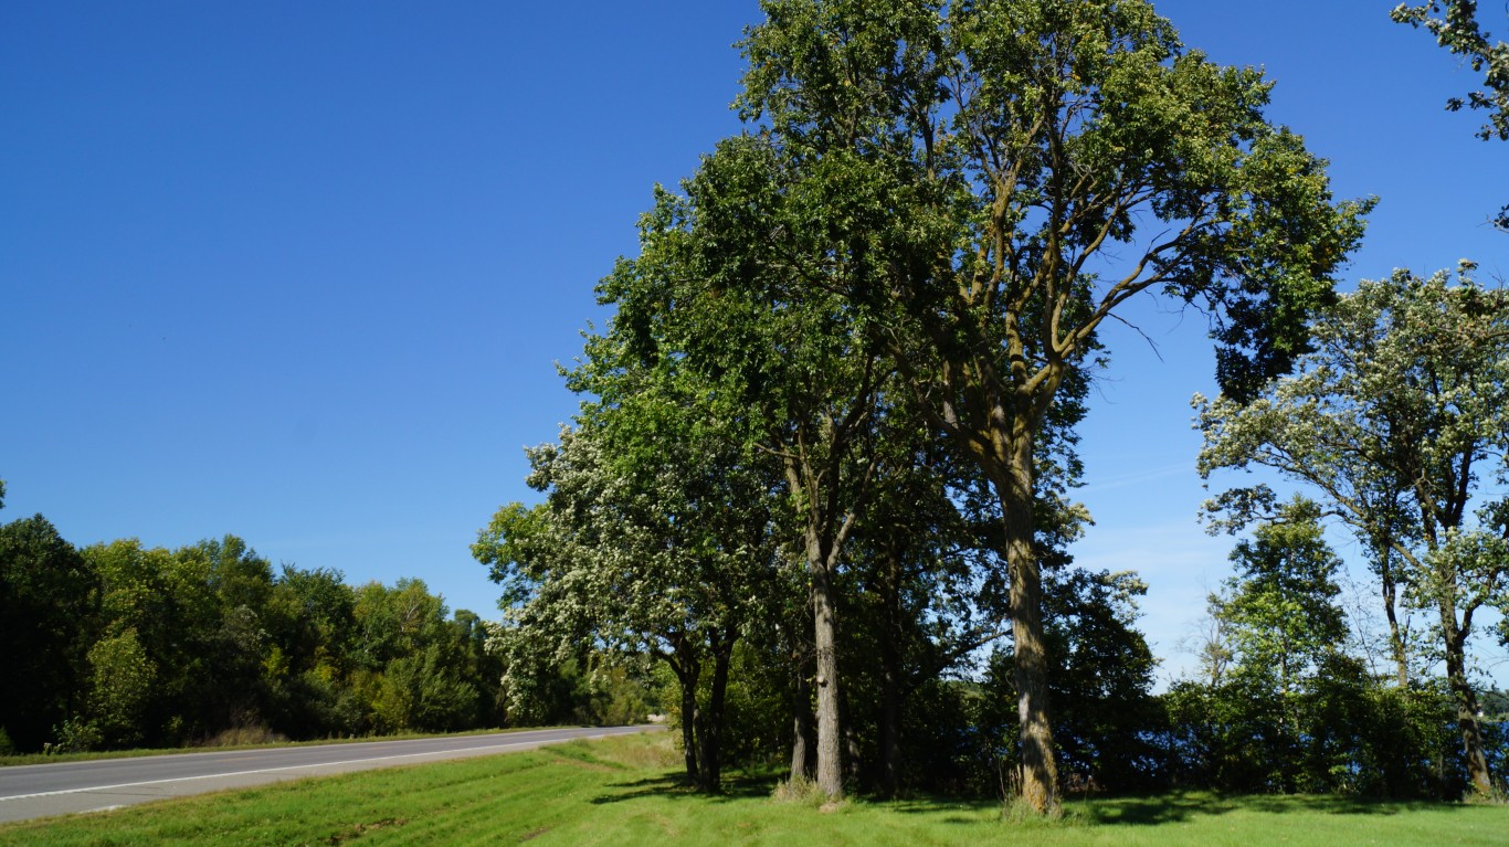
<path fill-rule="evenodd" d="M 675 362 L 727 438 L 768 456 L 795 524 L 813 618 L 816 781 L 842 791 L 837 574 L 881 468 L 880 420 L 890 368 L 851 303 L 831 293 L 872 273 L 848 236 L 813 219 L 818 198 L 785 193 L 788 163 L 756 137 L 724 140 L 687 196 L 656 190 L 640 257 L 622 260 L 599 296 L 617 306 L 611 335 L 635 367 Z M 786 233 L 816 266 L 792 266 Z M 800 737 L 800 735 L 798 735 Z M 795 758 L 795 756 L 794 756 Z M 800 776 L 804 765 L 794 765 Z"/>

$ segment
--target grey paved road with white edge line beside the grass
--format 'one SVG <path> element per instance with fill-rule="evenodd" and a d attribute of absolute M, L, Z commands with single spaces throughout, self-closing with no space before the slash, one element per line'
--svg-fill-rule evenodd
<path fill-rule="evenodd" d="M 161 797 L 183 797 L 324 773 L 530 750 L 572 738 L 602 738 L 647 729 L 658 728 L 531 729 L 412 741 L 362 741 L 0 767 L 0 821 L 106 811 Z"/>

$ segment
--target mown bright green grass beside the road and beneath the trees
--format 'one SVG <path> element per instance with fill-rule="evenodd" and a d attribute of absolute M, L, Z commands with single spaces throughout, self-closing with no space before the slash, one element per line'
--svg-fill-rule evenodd
<path fill-rule="evenodd" d="M 1509 844 L 1509 808 L 1165 794 L 1003 821 L 999 803 L 776 802 L 770 779 L 699 797 L 667 734 L 374 770 L 0 824 L 0 845 L 160 844 Z"/>

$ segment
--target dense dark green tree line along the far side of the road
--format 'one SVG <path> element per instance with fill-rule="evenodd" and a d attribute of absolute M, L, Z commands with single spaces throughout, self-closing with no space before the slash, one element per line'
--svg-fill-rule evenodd
<path fill-rule="evenodd" d="M 3 500 L 0 483 L 0 500 Z M 552 669 L 528 716 L 499 699 L 496 624 L 421 580 L 350 586 L 235 536 L 75 548 L 42 515 L 0 525 L 0 753 L 640 720 L 638 679 Z M 587 657 L 584 661 L 590 661 Z"/>

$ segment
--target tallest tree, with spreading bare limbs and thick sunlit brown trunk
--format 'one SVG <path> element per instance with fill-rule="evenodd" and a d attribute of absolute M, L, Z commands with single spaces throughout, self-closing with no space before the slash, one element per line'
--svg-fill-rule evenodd
<path fill-rule="evenodd" d="M 1304 349 L 1366 202 L 1262 115 L 1269 83 L 1139 2 L 770 0 L 738 107 L 780 198 L 761 263 L 842 297 L 1000 501 L 1023 797 L 1056 806 L 1034 457 L 1096 331 L 1145 291 L 1209 310 L 1248 397 Z M 751 171 L 753 172 L 753 171 Z M 822 233 L 821 240 L 806 237 Z M 813 251 L 818 245 L 822 249 Z M 850 273 L 834 273 L 842 266 Z M 797 288 L 800 290 L 800 288 Z"/>

